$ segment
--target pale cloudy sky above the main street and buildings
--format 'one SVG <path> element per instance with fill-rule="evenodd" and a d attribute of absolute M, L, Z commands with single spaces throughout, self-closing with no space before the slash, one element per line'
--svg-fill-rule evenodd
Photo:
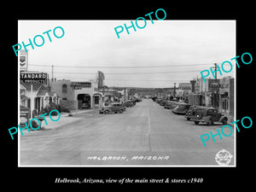
<path fill-rule="evenodd" d="M 135 21 L 133 20 L 135 23 Z M 138 25 L 143 26 L 142 20 Z M 87 81 L 97 71 L 105 84 L 122 87 L 164 88 L 201 78 L 200 72 L 236 56 L 236 20 L 147 20 L 117 37 L 114 28 L 131 26 L 131 20 L 19 20 L 18 43 L 52 30 L 64 29 L 62 38 L 52 31 L 41 47 L 28 46 L 28 70 L 54 78 Z M 125 28 L 125 27 L 124 27 Z M 57 33 L 57 31 L 56 31 Z M 38 40 L 39 42 L 39 40 Z M 218 74 L 218 78 L 235 75 Z M 228 70 L 229 67 L 226 68 Z M 213 77 L 211 77 L 213 78 Z"/>

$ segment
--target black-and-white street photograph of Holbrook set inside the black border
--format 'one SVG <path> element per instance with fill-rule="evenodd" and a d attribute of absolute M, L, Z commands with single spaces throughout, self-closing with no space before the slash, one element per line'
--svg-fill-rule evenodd
<path fill-rule="evenodd" d="M 18 21 L 19 166 L 236 166 L 236 20 L 160 11 Z"/>

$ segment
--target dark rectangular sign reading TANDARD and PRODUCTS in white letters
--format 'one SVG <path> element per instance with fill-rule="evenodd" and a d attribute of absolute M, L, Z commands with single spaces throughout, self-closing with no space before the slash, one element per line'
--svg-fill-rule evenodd
<path fill-rule="evenodd" d="M 47 84 L 47 73 L 22 73 L 20 83 L 24 84 Z"/>

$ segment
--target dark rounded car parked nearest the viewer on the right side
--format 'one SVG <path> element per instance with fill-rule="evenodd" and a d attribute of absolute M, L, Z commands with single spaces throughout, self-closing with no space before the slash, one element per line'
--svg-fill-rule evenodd
<path fill-rule="evenodd" d="M 198 125 L 200 122 L 207 123 L 207 125 L 213 125 L 214 122 L 221 122 L 226 125 L 228 121 L 228 118 L 224 114 L 218 113 L 216 108 L 195 108 L 192 115 L 191 120 L 195 122 L 195 125 Z"/>

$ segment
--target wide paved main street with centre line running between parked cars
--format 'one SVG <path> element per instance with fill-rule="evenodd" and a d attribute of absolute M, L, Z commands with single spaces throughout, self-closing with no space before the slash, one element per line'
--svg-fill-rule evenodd
<path fill-rule="evenodd" d="M 217 133 L 221 124 L 195 125 L 151 99 L 125 113 L 74 113 L 58 122 L 20 136 L 20 166 L 218 166 L 215 155 L 222 149 L 234 165 L 234 134 L 204 147 L 200 136 Z"/>

